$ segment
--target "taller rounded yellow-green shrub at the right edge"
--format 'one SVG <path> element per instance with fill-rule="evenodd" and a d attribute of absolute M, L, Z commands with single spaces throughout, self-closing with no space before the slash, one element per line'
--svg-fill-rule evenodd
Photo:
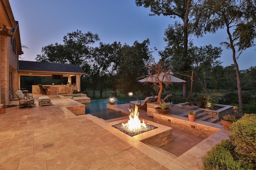
<path fill-rule="evenodd" d="M 256 168 L 256 114 L 245 114 L 232 123 L 230 132 L 230 141 L 236 146 L 239 159 Z"/>

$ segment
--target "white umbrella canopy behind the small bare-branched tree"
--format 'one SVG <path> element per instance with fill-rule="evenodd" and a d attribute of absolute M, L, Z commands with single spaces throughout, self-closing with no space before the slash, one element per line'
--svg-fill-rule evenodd
<path fill-rule="evenodd" d="M 162 80 L 162 77 L 163 77 L 164 73 L 162 72 L 158 78 L 159 80 Z M 141 80 L 138 80 L 138 82 L 157 82 L 156 78 L 156 74 L 153 75 L 153 77 L 146 77 L 146 78 L 143 78 Z M 175 76 L 172 76 L 172 75 L 167 75 L 163 82 L 174 82 L 174 83 L 182 83 L 182 82 L 186 82 L 185 80 L 182 80 L 178 77 L 175 77 Z"/>

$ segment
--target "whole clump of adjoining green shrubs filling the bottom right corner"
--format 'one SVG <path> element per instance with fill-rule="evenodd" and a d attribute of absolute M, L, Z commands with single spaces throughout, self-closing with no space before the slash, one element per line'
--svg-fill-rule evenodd
<path fill-rule="evenodd" d="M 216 144 L 202 158 L 204 170 L 256 169 L 256 114 L 245 114 L 230 126 L 230 140 Z"/>

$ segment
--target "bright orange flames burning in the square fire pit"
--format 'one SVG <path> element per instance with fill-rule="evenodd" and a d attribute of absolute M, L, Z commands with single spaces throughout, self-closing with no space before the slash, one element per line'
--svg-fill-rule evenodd
<path fill-rule="evenodd" d="M 135 105 L 134 110 L 129 109 L 129 111 L 130 119 L 128 120 L 127 123 L 122 123 L 122 125 L 127 127 L 130 131 L 136 131 L 137 129 L 141 129 L 142 127 L 146 128 L 146 123 L 144 122 L 144 120 L 142 120 L 142 123 L 140 122 L 137 104 Z"/>

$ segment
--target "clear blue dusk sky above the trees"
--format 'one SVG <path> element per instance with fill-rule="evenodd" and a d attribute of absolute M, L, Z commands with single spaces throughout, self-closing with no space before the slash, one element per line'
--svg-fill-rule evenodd
<path fill-rule="evenodd" d="M 67 33 L 81 30 L 98 34 L 101 42 L 113 43 L 120 41 L 132 45 L 134 41 L 150 40 L 150 47 L 163 50 L 166 43 L 163 40 L 164 30 L 175 20 L 164 16 L 149 16 L 150 9 L 137 7 L 135 0 L 10 0 L 15 20 L 19 21 L 22 45 L 21 57 L 25 61 L 35 61 L 42 47 L 51 43 L 63 43 Z M 226 41 L 224 30 L 216 34 L 207 34 L 194 39 L 195 46 L 212 46 L 223 49 L 220 61 L 223 66 L 234 64 L 232 51 L 220 46 Z M 98 43 L 96 43 L 98 45 Z M 251 47 L 237 59 L 240 70 L 256 66 L 256 47 Z M 153 53 L 156 61 L 158 53 Z"/>

